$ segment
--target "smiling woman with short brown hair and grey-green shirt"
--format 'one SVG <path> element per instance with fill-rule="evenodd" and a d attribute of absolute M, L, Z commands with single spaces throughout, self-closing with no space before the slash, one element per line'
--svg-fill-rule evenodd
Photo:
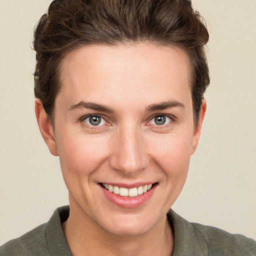
<path fill-rule="evenodd" d="M 69 207 L 4 255 L 255 255 L 242 235 L 169 210 L 186 179 L 209 84 L 187 0 L 55 0 L 37 24 L 35 113 Z"/>

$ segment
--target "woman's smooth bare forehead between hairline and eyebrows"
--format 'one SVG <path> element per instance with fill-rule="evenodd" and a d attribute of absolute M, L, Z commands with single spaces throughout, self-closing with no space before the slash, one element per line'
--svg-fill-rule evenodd
<path fill-rule="evenodd" d="M 59 94 L 70 104 L 84 99 L 142 104 L 142 98 L 151 104 L 153 97 L 155 101 L 191 97 L 189 59 L 175 46 L 81 46 L 63 58 L 60 70 Z M 109 98 L 114 102 L 107 102 Z"/>

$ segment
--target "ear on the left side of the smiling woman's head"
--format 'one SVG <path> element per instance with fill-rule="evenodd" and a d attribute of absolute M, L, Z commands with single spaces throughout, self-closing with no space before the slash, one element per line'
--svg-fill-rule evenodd
<path fill-rule="evenodd" d="M 50 122 L 49 117 L 46 115 L 41 100 L 36 98 L 35 104 L 34 104 L 34 111 L 36 115 L 37 124 L 39 127 L 39 130 L 41 132 L 41 135 L 48 146 L 51 154 L 57 156 L 57 146 L 55 141 L 55 136 L 53 132 L 53 128 Z"/>

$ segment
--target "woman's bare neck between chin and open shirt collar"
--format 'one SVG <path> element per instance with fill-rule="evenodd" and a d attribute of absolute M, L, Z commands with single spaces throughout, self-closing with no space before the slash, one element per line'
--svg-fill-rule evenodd
<path fill-rule="evenodd" d="M 173 236 L 167 216 L 146 233 L 115 235 L 84 215 L 80 208 L 73 209 L 72 206 L 70 204 L 69 217 L 62 227 L 73 256 L 100 255 L 102 251 L 105 256 L 171 255 Z"/>

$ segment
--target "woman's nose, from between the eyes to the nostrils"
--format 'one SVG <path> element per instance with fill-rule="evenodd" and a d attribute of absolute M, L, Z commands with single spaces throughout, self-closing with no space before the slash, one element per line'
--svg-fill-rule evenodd
<path fill-rule="evenodd" d="M 146 141 L 138 127 L 116 131 L 111 145 L 110 166 L 126 175 L 135 175 L 149 164 Z"/>

